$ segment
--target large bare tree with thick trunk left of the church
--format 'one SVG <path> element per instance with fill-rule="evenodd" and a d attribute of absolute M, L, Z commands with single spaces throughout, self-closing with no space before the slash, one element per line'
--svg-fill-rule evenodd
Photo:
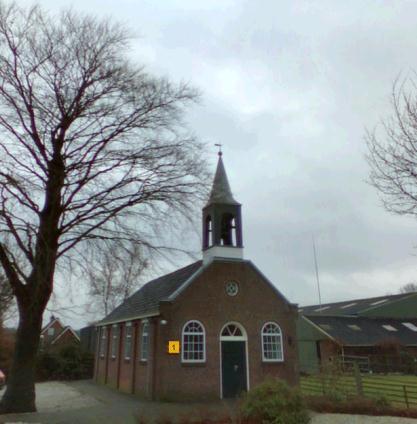
<path fill-rule="evenodd" d="M 205 189 L 183 121 L 196 92 L 131 63 L 129 40 L 110 21 L 0 2 L 0 264 L 19 310 L 0 413 L 36 410 L 57 265 L 89 240 L 155 247 L 155 219 L 186 214 Z"/>

